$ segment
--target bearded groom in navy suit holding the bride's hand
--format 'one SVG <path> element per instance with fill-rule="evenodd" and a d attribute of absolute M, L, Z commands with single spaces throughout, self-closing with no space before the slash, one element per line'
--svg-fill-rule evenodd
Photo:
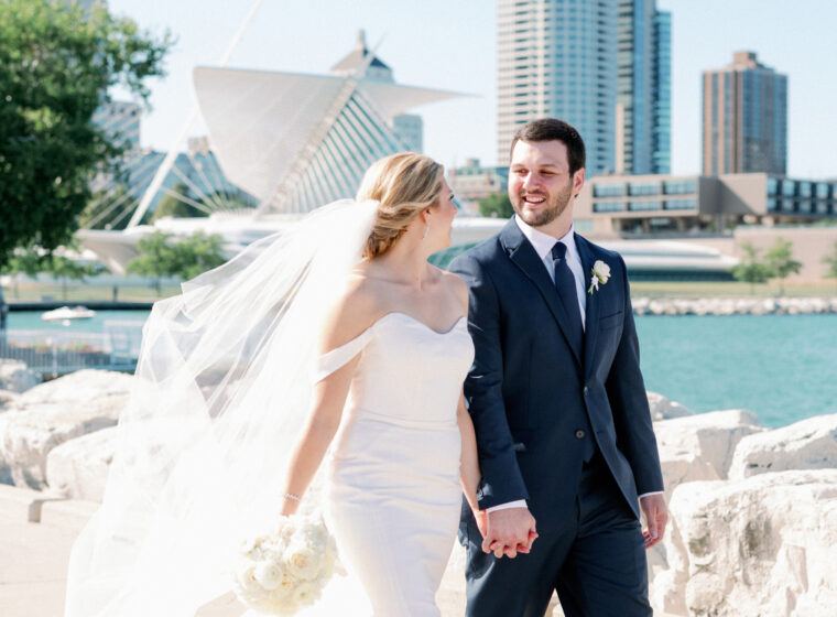
<path fill-rule="evenodd" d="M 480 521 L 466 505 L 460 524 L 469 617 L 542 617 L 553 589 L 567 617 L 651 615 L 663 479 L 624 262 L 574 232 L 584 166 L 566 122 L 521 127 L 514 217 L 450 264 L 470 288 L 482 469 Z"/>

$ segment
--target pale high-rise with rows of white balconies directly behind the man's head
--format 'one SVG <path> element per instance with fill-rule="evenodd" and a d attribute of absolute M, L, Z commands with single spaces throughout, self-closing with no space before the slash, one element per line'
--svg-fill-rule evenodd
<path fill-rule="evenodd" d="M 546 116 L 581 133 L 588 175 L 615 167 L 617 0 L 498 0 L 497 160 Z"/>

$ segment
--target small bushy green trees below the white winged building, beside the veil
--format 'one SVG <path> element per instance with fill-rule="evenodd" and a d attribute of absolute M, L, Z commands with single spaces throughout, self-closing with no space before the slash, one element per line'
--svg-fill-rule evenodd
<path fill-rule="evenodd" d="M 127 270 L 151 278 L 157 293 L 163 277 L 194 279 L 226 261 L 220 236 L 202 232 L 175 239 L 171 234 L 154 231 L 139 241 L 138 249 L 140 255 L 128 262 Z"/>

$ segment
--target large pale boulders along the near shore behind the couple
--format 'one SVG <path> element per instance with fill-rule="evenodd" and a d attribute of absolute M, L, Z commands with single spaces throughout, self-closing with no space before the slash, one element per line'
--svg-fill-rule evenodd
<path fill-rule="evenodd" d="M 100 500 L 133 377 L 83 370 L 34 385 L 0 369 L 0 481 Z M 654 392 L 649 402 L 671 510 L 649 553 L 654 610 L 834 615 L 837 414 L 768 430 L 747 410 L 694 414 Z M 457 545 L 441 591 L 450 615 L 461 615 L 463 569 Z"/>

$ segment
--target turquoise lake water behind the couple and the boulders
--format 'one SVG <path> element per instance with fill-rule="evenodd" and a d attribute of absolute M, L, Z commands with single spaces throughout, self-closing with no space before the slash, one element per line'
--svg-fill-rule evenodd
<path fill-rule="evenodd" d="M 102 332 L 105 321 L 144 311 L 100 311 L 70 326 L 10 313 L 10 329 Z M 696 412 L 749 409 L 765 426 L 837 413 L 837 315 L 640 316 L 649 390 Z"/>

